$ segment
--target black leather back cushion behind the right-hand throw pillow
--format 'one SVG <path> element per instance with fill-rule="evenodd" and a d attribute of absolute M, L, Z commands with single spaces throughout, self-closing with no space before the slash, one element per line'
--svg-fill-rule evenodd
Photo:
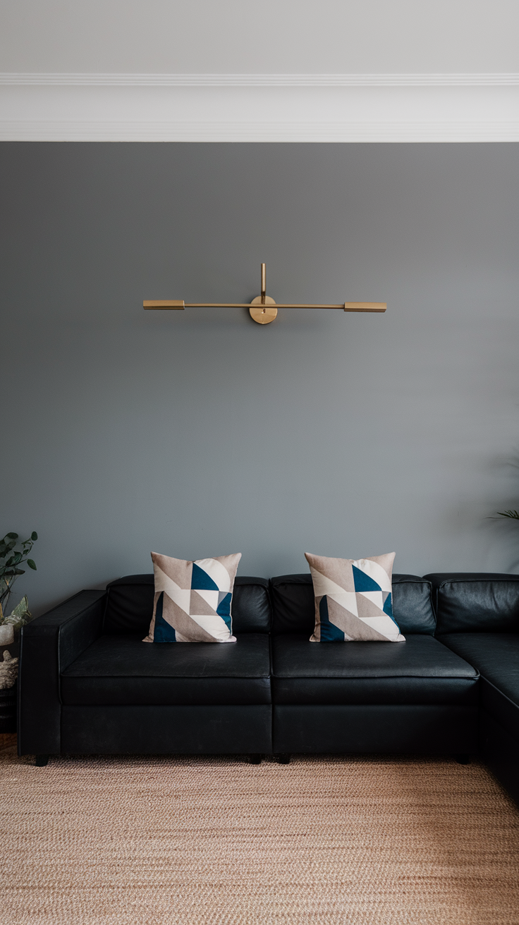
<path fill-rule="evenodd" d="M 271 578 L 272 632 L 314 632 L 314 586 L 310 574 L 279 575 Z M 392 578 L 393 616 L 403 635 L 434 635 L 436 620 L 431 586 L 419 575 L 394 574 Z"/>

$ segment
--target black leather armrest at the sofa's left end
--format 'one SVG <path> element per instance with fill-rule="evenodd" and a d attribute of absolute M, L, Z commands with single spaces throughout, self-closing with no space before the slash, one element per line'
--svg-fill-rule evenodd
<path fill-rule="evenodd" d="M 59 676 L 101 635 L 105 591 L 80 591 L 20 634 L 19 755 L 58 755 L 61 745 Z"/>

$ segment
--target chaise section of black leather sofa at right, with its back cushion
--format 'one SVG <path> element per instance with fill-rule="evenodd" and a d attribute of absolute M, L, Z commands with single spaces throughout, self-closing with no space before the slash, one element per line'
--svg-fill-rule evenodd
<path fill-rule="evenodd" d="M 437 637 L 481 675 L 483 759 L 519 800 L 519 575 L 431 573 Z"/>

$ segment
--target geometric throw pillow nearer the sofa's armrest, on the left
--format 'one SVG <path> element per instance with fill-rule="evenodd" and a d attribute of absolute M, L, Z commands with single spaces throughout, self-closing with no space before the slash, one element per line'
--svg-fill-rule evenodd
<path fill-rule="evenodd" d="M 142 642 L 236 642 L 230 615 L 241 552 L 216 559 L 171 559 L 152 552 L 154 615 Z"/>

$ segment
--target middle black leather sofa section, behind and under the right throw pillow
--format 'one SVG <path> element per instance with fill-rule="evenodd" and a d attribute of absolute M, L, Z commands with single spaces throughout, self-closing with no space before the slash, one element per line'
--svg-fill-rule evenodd
<path fill-rule="evenodd" d="M 275 752 L 476 749 L 478 673 L 434 637 L 428 581 L 393 575 L 402 643 L 311 643 L 309 574 L 271 579 L 271 598 Z"/>

